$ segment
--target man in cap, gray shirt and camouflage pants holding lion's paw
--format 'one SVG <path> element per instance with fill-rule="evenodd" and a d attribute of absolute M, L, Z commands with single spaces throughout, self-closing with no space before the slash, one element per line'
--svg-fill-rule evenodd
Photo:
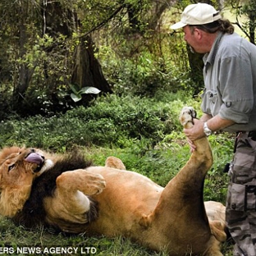
<path fill-rule="evenodd" d="M 230 21 L 206 3 L 191 4 L 171 29 L 183 29 L 192 51 L 203 56 L 203 116 L 185 129 L 193 141 L 217 130 L 237 133 L 229 174 L 226 222 L 234 255 L 256 256 L 256 46 L 234 33 Z"/>

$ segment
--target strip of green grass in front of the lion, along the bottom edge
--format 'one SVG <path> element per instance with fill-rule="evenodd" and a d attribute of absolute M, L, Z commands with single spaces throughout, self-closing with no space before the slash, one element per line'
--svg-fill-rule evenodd
<path fill-rule="evenodd" d="M 14 226 L 4 217 L 0 217 L 0 225 L 2 255 L 167 255 L 149 251 L 122 237 L 111 239 L 103 236 L 88 237 L 86 234 L 57 234 L 43 227 L 27 230 L 22 226 Z"/>

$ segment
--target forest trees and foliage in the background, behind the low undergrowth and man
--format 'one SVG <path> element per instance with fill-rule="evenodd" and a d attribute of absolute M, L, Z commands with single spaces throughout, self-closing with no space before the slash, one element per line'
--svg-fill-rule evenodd
<path fill-rule="evenodd" d="M 229 0 L 235 23 L 253 41 L 254 1 Z M 203 88 L 200 58 L 188 54 L 182 33 L 169 29 L 190 1 L 0 2 L 0 118 L 89 106 L 95 94 L 153 97 L 158 89 L 195 95 Z M 241 4 L 242 3 L 242 4 Z M 249 17 L 241 23 L 240 17 Z"/>

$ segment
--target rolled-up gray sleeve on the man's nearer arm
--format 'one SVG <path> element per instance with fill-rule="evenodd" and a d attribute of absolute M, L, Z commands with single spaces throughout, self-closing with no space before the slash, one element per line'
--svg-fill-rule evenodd
<path fill-rule="evenodd" d="M 254 108 L 253 76 L 249 60 L 228 57 L 222 60 L 220 69 L 222 105 L 219 116 L 238 124 L 248 123 Z"/>

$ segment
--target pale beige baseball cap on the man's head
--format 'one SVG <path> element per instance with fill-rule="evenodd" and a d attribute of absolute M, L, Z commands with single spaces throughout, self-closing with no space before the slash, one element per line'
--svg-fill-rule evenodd
<path fill-rule="evenodd" d="M 171 25 L 171 30 L 181 29 L 185 25 L 203 25 L 222 19 L 219 11 L 207 3 L 195 3 L 185 7 L 181 21 Z"/>

